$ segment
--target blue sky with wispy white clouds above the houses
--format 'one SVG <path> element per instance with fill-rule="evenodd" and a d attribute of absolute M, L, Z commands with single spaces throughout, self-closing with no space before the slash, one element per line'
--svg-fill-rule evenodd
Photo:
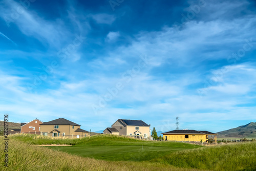
<path fill-rule="evenodd" d="M 117 119 L 218 132 L 256 121 L 254 1 L 0 2 L 9 121 Z M 3 120 L 3 119 L 1 119 Z"/>

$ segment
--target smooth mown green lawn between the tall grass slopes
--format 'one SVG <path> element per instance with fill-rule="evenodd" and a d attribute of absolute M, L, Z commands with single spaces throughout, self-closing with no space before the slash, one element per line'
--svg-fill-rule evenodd
<path fill-rule="evenodd" d="M 187 145 L 187 144 L 185 144 Z M 104 146 L 52 146 L 51 149 L 107 161 L 148 161 L 172 152 L 191 148 L 172 146 L 104 145 Z"/>

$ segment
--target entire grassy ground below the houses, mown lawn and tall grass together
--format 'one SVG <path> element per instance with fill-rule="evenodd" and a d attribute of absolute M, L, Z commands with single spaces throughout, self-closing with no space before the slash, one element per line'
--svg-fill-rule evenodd
<path fill-rule="evenodd" d="M 64 140 L 13 135 L 9 139 L 8 170 L 256 170 L 256 142 L 202 147 L 104 135 Z M 55 142 L 75 145 L 34 145 Z M 2 164 L 0 170 L 4 169 Z"/>

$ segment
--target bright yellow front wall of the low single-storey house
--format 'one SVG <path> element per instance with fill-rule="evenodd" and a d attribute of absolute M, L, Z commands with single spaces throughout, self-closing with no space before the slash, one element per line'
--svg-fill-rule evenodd
<path fill-rule="evenodd" d="M 181 134 L 163 134 L 163 138 L 166 139 L 167 136 L 167 140 L 169 141 L 201 141 L 201 139 L 203 140 L 203 142 L 206 141 L 206 135 L 190 135 L 190 134 L 186 134 L 188 135 L 188 138 L 185 138 L 185 134 L 181 135 Z"/>

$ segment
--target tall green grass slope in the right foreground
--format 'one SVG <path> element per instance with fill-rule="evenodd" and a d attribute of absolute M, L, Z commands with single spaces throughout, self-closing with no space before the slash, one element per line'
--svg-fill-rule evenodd
<path fill-rule="evenodd" d="M 256 142 L 206 146 L 165 155 L 153 161 L 185 168 L 256 170 Z"/>

